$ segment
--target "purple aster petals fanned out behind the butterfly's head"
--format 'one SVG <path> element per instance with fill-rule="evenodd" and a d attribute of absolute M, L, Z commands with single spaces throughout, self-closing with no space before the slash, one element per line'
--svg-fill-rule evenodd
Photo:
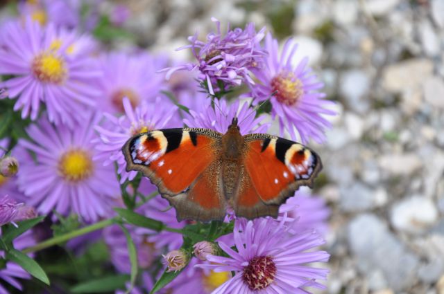
<path fill-rule="evenodd" d="M 247 102 L 240 104 L 239 100 L 230 106 L 225 100 L 214 100 L 214 108 L 212 108 L 211 99 L 207 99 L 198 105 L 197 109 L 190 109 L 190 116 L 187 116 L 183 121 L 188 127 L 205 127 L 225 134 L 232 119 L 237 116 L 242 135 L 265 133 L 269 127 L 268 123 L 261 125 L 265 116 L 256 118 L 255 112 L 248 107 Z"/>

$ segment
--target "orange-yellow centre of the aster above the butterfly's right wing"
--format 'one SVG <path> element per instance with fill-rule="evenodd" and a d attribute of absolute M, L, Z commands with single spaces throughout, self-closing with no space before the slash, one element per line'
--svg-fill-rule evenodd
<path fill-rule="evenodd" d="M 285 105 L 291 106 L 304 95 L 302 82 L 294 73 L 280 73 L 271 80 L 271 89 L 276 99 Z"/>

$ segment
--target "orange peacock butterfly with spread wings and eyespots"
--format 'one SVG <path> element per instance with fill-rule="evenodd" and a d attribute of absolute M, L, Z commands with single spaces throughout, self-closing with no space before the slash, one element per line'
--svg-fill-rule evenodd
<path fill-rule="evenodd" d="M 122 147 L 126 170 L 142 172 L 174 208 L 178 221 L 278 217 L 279 206 L 322 169 L 314 151 L 268 134 L 242 136 L 237 118 L 228 131 L 159 129 Z"/>

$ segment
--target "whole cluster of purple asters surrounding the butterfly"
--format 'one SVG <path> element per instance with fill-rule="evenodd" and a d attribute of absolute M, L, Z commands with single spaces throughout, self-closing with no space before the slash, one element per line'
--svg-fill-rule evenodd
<path fill-rule="evenodd" d="M 86 22 L 80 17 L 81 2 L 92 7 Z M 191 49 L 194 62 L 178 65 L 140 48 L 110 52 L 89 33 L 98 13 L 92 2 L 20 2 L 19 15 L 0 24 L 0 104 L 11 100 L 12 110 L 29 120 L 18 140 L 11 134 L 0 140 L 0 225 L 17 226 L 37 214 L 48 215 L 53 223 L 76 214 L 91 225 L 116 217 L 112 208 L 127 205 L 122 199 L 126 192 L 145 202 L 135 212 L 172 229 L 124 225 L 142 273 L 135 287 L 127 284 L 132 293 L 150 291 L 162 270 L 182 270 L 165 286 L 167 293 L 307 293 L 307 287 L 323 288 L 318 281 L 326 279 L 327 270 L 308 265 L 329 257 L 318 250 L 325 244 L 330 214 L 321 197 L 297 192 L 281 206 L 278 219 L 228 216 L 231 232 L 192 244 L 194 253 L 187 252 L 180 230 L 195 223 L 176 221 L 175 210 L 159 195 L 148 199 L 157 189 L 137 178 L 137 172 L 126 172 L 121 153 L 135 134 L 184 125 L 224 133 L 234 117 L 241 134 L 265 133 L 275 120 L 280 136 L 322 143 L 330 127 L 326 116 L 335 113 L 307 59 L 293 64 L 297 44 L 289 39 L 280 51 L 266 28 L 228 26 L 223 33 L 213 19 L 215 33 L 205 41 L 196 33 L 181 48 Z M 114 24 L 120 25 L 128 13 L 111 15 Z M 184 75 L 184 70 L 193 73 Z M 242 98 L 225 99 L 234 89 L 247 90 Z M 267 101 L 271 111 L 264 113 L 260 107 Z M 15 248 L 33 246 L 31 232 L 15 239 Z M 108 246 L 115 270 L 129 274 L 121 227 L 109 226 L 96 237 Z M 77 243 L 71 245 L 85 246 Z M 16 278 L 30 276 L 8 261 L 0 281 L 21 290 Z M 2 283 L 0 293 L 8 293 Z"/>

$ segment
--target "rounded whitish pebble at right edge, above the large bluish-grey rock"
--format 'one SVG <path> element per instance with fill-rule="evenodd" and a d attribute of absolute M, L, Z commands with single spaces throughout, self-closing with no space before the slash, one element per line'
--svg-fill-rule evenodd
<path fill-rule="evenodd" d="M 425 232 L 438 221 L 438 210 L 432 200 L 412 196 L 395 203 L 391 211 L 394 228 L 413 234 Z"/>

